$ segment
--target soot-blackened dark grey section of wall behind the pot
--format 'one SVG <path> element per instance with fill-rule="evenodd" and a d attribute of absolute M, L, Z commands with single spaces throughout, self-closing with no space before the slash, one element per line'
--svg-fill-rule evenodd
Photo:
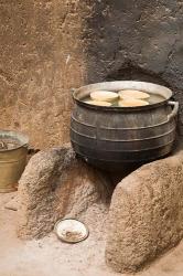
<path fill-rule="evenodd" d="M 179 1 L 95 0 L 84 32 L 87 82 L 141 79 L 181 92 L 182 15 Z"/>

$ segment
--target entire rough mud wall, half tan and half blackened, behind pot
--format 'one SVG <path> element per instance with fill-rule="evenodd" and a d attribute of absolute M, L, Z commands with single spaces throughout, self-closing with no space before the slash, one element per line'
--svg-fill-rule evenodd
<path fill-rule="evenodd" d="M 0 1 L 0 127 L 68 141 L 69 88 L 104 79 L 161 83 L 183 103 L 182 24 L 177 0 Z"/>

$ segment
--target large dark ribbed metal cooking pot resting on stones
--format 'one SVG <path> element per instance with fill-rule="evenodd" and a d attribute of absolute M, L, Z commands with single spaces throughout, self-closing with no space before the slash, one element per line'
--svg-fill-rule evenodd
<path fill-rule="evenodd" d="M 164 97 L 141 107 L 101 107 L 82 102 L 93 91 L 139 89 Z M 177 102 L 172 92 L 143 82 L 107 82 L 74 91 L 71 121 L 74 150 L 100 168 L 119 168 L 123 162 L 143 162 L 166 156 L 175 140 Z"/>

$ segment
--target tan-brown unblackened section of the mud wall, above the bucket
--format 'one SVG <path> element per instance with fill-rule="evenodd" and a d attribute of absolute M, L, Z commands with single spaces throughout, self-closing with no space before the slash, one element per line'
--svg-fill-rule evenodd
<path fill-rule="evenodd" d="M 78 0 L 0 1 L 0 127 L 35 147 L 68 140 L 69 88 L 84 78 Z"/>

